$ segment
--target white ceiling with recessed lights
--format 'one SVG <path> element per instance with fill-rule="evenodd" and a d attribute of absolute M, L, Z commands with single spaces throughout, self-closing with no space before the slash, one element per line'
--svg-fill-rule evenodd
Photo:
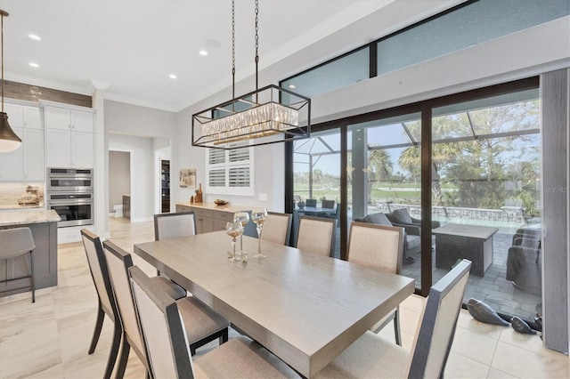
<path fill-rule="evenodd" d="M 259 3 L 261 70 L 393 2 Z M 10 13 L 7 80 L 84 94 L 99 88 L 107 99 L 173 111 L 232 84 L 230 0 L 0 0 L 0 9 Z M 235 12 L 240 80 L 255 72 L 254 1 L 237 0 Z"/>

